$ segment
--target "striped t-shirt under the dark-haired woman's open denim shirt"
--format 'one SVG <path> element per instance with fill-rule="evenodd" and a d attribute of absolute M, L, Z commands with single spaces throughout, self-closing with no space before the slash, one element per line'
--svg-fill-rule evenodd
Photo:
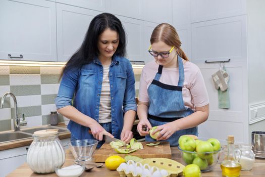
<path fill-rule="evenodd" d="M 99 102 L 99 123 L 108 123 L 112 121 L 111 117 L 111 89 L 110 89 L 110 78 L 109 71 L 110 65 L 103 66 L 103 79 L 101 96 Z"/>

